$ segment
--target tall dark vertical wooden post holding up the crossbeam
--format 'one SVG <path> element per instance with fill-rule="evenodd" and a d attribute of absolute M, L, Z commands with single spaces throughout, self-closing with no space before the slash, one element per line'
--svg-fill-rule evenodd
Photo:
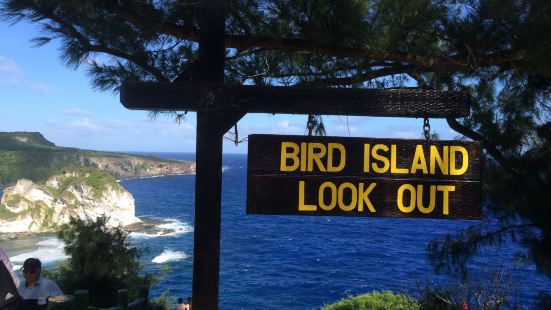
<path fill-rule="evenodd" d="M 197 80 L 224 81 L 225 1 L 199 4 Z M 222 192 L 222 112 L 197 112 L 193 308 L 218 309 Z"/>

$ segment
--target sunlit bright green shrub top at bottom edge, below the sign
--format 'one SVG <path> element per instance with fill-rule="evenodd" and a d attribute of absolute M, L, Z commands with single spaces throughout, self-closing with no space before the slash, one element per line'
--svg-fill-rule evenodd
<path fill-rule="evenodd" d="M 364 295 L 342 299 L 326 305 L 322 310 L 418 310 L 415 298 L 390 291 L 371 292 Z"/>

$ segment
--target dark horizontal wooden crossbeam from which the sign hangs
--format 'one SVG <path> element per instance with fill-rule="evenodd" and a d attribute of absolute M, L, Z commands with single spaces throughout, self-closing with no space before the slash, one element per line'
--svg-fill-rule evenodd
<path fill-rule="evenodd" d="M 414 88 L 351 89 L 130 82 L 121 86 L 128 109 L 398 117 L 465 117 L 470 97 Z"/>

